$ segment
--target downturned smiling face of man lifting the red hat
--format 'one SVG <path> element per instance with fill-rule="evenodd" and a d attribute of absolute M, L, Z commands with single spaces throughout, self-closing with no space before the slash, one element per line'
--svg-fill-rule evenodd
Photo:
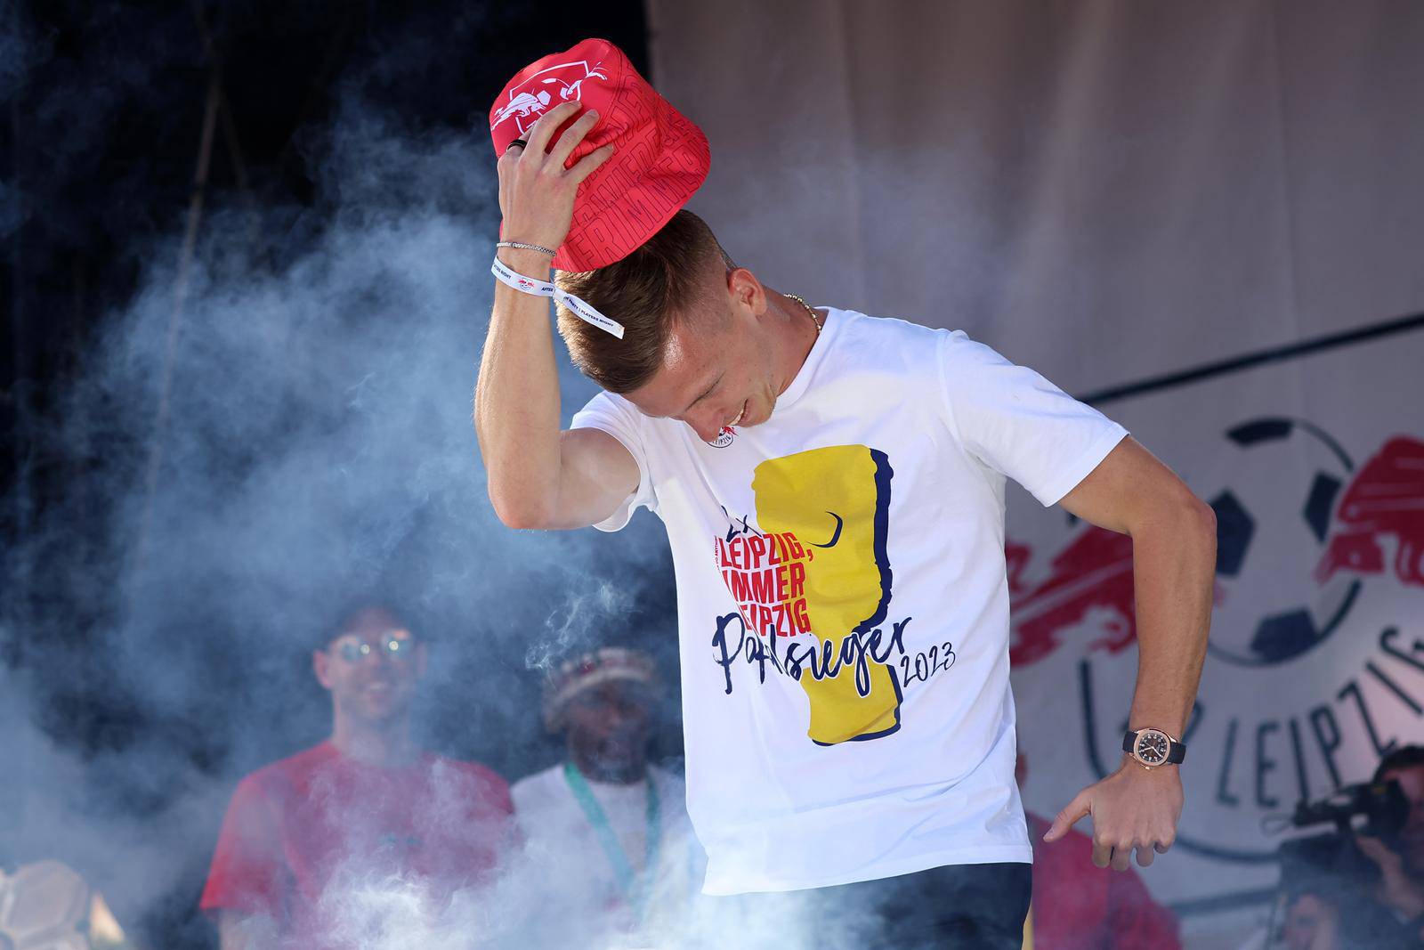
<path fill-rule="evenodd" d="M 695 313 L 668 335 L 662 367 L 627 395 L 645 416 L 676 419 L 712 442 L 723 426 L 756 426 L 772 416 L 782 390 L 776 338 L 762 316 L 766 296 L 746 271 L 729 271 Z"/>

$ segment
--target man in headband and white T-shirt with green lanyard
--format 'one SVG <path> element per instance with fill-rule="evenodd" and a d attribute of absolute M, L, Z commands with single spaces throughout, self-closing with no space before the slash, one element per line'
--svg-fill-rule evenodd
<path fill-rule="evenodd" d="M 565 759 L 511 789 L 543 916 L 577 920 L 590 946 L 595 934 L 684 946 L 702 886 L 682 778 L 648 762 L 655 695 L 641 651 L 561 664 L 544 682 L 544 725 L 562 734 Z"/>

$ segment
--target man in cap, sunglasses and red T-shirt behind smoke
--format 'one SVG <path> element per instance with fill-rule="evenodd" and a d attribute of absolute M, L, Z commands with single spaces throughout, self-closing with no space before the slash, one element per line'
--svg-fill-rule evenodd
<path fill-rule="evenodd" d="M 384 607 L 357 610 L 312 651 L 332 735 L 234 792 L 201 904 L 222 950 L 360 943 L 345 894 L 399 877 L 439 903 L 493 870 L 513 828 L 508 785 L 416 746 L 427 659 Z"/>

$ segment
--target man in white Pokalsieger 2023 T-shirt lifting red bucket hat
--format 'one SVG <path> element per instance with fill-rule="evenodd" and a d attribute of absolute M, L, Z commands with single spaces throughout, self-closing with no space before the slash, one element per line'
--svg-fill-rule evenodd
<path fill-rule="evenodd" d="M 856 946 L 1020 944 L 1032 852 L 1005 477 L 1134 540 L 1125 755 L 1048 837 L 1092 815 L 1099 866 L 1165 852 L 1210 620 L 1210 508 L 1122 426 L 963 332 L 813 308 L 738 266 L 681 209 L 705 138 L 609 44 L 533 64 L 490 120 L 490 499 L 517 528 L 612 531 L 638 507 L 666 526 L 703 892 L 864 907 L 837 916 Z M 565 432 L 541 296 L 607 390 Z"/>

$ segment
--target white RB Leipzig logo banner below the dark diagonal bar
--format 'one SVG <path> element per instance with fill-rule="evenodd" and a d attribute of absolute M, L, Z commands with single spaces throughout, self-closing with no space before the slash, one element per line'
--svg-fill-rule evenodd
<path fill-rule="evenodd" d="M 1243 899 L 1274 886 L 1297 802 L 1368 781 L 1387 751 L 1424 741 L 1421 357 L 1424 320 L 1099 400 L 1218 516 L 1188 805 L 1176 850 L 1143 873 L 1189 934 L 1210 930 L 1196 946 L 1263 926 L 1269 909 Z M 1136 672 L 1132 541 L 1014 499 L 1025 803 L 1051 816 L 1121 756 Z"/>

